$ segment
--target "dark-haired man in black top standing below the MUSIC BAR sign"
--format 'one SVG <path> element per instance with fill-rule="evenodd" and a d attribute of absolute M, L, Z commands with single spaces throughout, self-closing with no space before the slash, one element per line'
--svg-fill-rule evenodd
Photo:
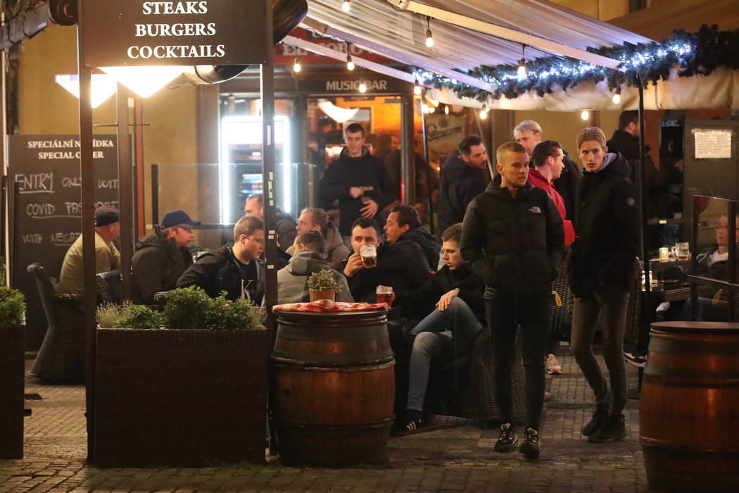
<path fill-rule="evenodd" d="M 364 147 L 364 129 L 359 123 L 347 126 L 344 140 L 347 146 L 319 181 L 319 199 L 323 203 L 338 200 L 338 231 L 349 246 L 354 220 L 379 220 L 380 211 L 398 198 L 398 188 L 382 160 Z"/>

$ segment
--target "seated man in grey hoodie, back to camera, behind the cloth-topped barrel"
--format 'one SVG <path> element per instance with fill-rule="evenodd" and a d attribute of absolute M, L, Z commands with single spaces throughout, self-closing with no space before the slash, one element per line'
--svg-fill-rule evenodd
<path fill-rule="evenodd" d="M 341 241 L 341 237 L 338 237 Z M 342 242 L 341 245 L 344 245 Z M 320 231 L 303 231 L 293 243 L 293 256 L 283 269 L 277 271 L 277 302 L 310 302 L 307 281 L 310 274 L 326 269 L 333 273 L 341 290 L 336 293 L 337 302 L 353 302 L 347 278 L 328 265 L 322 252 L 326 250 L 326 239 Z"/>

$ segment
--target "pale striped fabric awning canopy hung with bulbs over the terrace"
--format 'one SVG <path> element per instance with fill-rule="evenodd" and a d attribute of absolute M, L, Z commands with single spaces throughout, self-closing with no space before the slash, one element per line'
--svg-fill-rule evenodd
<path fill-rule="evenodd" d="M 339 0 L 308 0 L 303 25 L 398 63 L 488 92 L 495 86 L 470 77 L 471 69 L 480 65 L 515 66 L 521 58 L 531 61 L 553 56 L 614 68 L 618 61 L 585 50 L 653 41 L 545 0 L 353 0 L 348 13 L 341 10 Z M 426 47 L 426 30 L 431 30 L 434 38 L 431 48 Z M 361 66 L 361 61 L 355 59 L 355 63 Z M 738 77 L 730 70 L 709 77 L 677 79 L 673 75 L 670 81 L 650 86 L 645 92 L 645 107 L 739 107 Z M 683 95 L 686 91 L 704 92 L 706 99 Z M 446 103 L 482 104 L 471 98 L 457 98 L 449 89 L 432 89 L 429 94 Z M 494 109 L 555 111 L 636 108 L 636 89 L 622 88 L 619 105 L 611 101 L 612 95 L 605 82 L 581 83 L 542 97 L 531 92 L 515 99 L 490 99 L 486 104 Z"/>

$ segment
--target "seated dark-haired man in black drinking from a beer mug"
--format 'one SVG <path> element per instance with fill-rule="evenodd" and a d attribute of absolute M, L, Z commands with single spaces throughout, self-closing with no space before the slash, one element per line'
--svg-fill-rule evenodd
<path fill-rule="evenodd" d="M 378 285 L 391 286 L 395 293 L 420 287 L 431 278 L 426 255 L 412 241 L 381 244 L 380 225 L 369 217 L 359 217 L 351 228 L 353 254 L 341 262 L 338 271 L 347 276 L 352 296 L 358 302 L 375 303 Z M 377 266 L 364 267 L 360 248 L 377 248 Z"/>

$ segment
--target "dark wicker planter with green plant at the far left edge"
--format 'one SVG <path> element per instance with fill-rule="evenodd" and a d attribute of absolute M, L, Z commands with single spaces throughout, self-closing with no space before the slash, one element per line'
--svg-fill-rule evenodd
<path fill-rule="evenodd" d="M 4 269 L 2 270 L 4 273 Z M 23 458 L 26 304 L 0 285 L 0 459 Z"/>

